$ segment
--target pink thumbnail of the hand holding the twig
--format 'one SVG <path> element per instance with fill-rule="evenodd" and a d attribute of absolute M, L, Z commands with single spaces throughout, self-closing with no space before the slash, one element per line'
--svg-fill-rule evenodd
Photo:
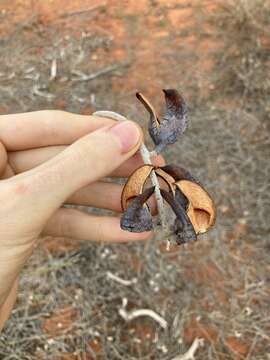
<path fill-rule="evenodd" d="M 109 132 L 116 135 L 122 146 L 122 153 L 133 149 L 140 140 L 139 128 L 132 121 L 123 121 L 111 127 Z"/>

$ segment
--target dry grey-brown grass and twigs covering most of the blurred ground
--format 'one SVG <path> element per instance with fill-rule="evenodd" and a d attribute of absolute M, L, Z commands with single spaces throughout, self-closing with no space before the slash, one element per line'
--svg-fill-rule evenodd
<path fill-rule="evenodd" d="M 267 359 L 270 153 L 269 84 L 264 78 L 269 60 L 262 39 L 269 28 L 268 10 L 266 1 L 254 0 L 228 1 L 216 12 L 211 36 L 228 50 L 214 54 L 210 80 L 215 95 L 204 101 L 198 97 L 197 77 L 190 86 L 192 74 L 187 75 L 183 85 L 184 70 L 178 71 L 181 59 L 194 60 L 193 54 L 177 48 L 170 58 L 175 84 L 186 86 L 190 94 L 191 125 L 166 158 L 179 163 L 181 156 L 181 164 L 192 169 L 214 195 L 218 221 L 213 231 L 197 244 L 169 254 L 162 251 L 158 237 L 124 246 L 82 243 L 72 251 L 40 247 L 24 270 L 17 306 L 0 335 L 1 359 L 171 360 L 184 353 L 196 336 L 205 338 L 196 360 Z M 133 18 L 128 21 L 134 25 Z M 34 23 L 30 38 L 21 32 L 3 41 L 0 96 L 7 109 L 27 111 L 59 104 L 74 112 L 128 109 L 126 115 L 137 117 L 140 107 L 133 94 L 119 93 L 112 86 L 113 77 L 128 79 L 129 69 L 122 62 L 117 62 L 117 70 L 93 81 L 74 81 L 78 76 L 74 69 L 87 74 L 99 70 L 95 63 L 89 64 L 89 57 L 110 50 L 110 36 L 97 32 L 80 41 L 67 40 L 47 29 L 46 56 L 40 59 L 26 49 L 41 41 L 42 31 L 43 25 Z M 61 65 L 59 77 L 52 81 L 54 58 Z M 194 68 L 197 65 L 200 59 Z M 167 86 L 167 81 L 164 77 L 158 85 Z M 40 94 L 33 93 L 37 85 Z M 224 98 L 228 108 L 219 106 Z M 231 106 L 235 98 L 241 100 L 237 108 Z M 136 283 L 125 286 L 108 272 Z M 152 309 L 166 319 L 168 328 L 148 317 L 125 322 L 119 315 L 125 298 L 129 310 Z"/>

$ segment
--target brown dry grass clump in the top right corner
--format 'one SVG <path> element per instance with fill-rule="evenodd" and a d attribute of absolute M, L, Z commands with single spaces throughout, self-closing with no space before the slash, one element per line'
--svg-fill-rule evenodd
<path fill-rule="evenodd" d="M 212 18 L 224 51 L 216 56 L 218 91 L 257 105 L 270 114 L 270 6 L 268 0 L 229 0 Z"/>

